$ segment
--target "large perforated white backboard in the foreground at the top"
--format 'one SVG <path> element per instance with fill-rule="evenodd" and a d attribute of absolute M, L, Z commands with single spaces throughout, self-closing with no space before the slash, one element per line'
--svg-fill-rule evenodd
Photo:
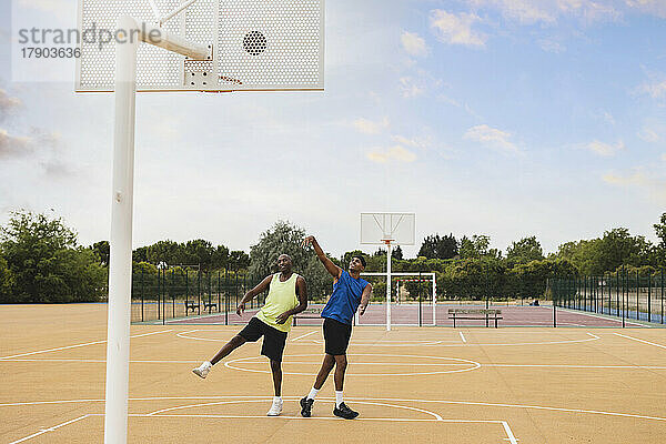
<path fill-rule="evenodd" d="M 155 23 L 151 0 L 79 0 L 79 30 L 115 32 L 130 16 Z M 184 0 L 152 0 L 163 17 Z M 137 91 L 290 91 L 324 88 L 324 0 L 198 0 L 162 28 L 211 46 L 193 61 L 151 44 L 138 53 Z M 89 33 L 94 34 L 94 32 Z M 82 39 L 77 91 L 114 89 L 115 43 Z"/>

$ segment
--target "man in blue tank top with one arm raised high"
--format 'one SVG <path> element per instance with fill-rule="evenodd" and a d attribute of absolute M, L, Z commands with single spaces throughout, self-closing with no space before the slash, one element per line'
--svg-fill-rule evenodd
<path fill-rule="evenodd" d="M 354 412 L 343 402 L 342 389 L 347 365 L 346 347 L 352 336 L 352 317 L 359 305 L 361 305 L 359 313 L 365 313 L 372 293 L 372 285 L 361 279 L 361 272 L 365 270 L 365 259 L 362 255 L 353 256 L 350 261 L 349 271 L 344 271 L 324 254 L 314 236 L 305 238 L 304 242 L 314 246 L 316 256 L 322 261 L 334 281 L 333 294 L 331 294 L 326 306 L 322 311 L 326 354 L 316 375 L 314 386 L 307 396 L 301 400 L 301 415 L 305 417 L 312 415 L 314 397 L 324 385 L 331 370 L 335 366 L 335 408 L 333 414 L 345 420 L 353 420 L 359 416 L 359 412 Z"/>

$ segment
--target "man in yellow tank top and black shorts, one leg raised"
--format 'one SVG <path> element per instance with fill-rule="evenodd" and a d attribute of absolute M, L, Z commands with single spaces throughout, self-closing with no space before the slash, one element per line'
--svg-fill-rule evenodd
<path fill-rule="evenodd" d="M 292 272 L 292 260 L 286 254 L 278 258 L 280 273 L 266 276 L 259 285 L 250 290 L 236 307 L 241 315 L 245 304 L 254 296 L 269 289 L 264 306 L 250 320 L 248 325 L 231 339 L 212 360 L 205 361 L 192 372 L 200 377 L 205 377 L 211 367 L 224 356 L 245 342 L 256 342 L 263 336 L 261 354 L 271 360 L 273 373 L 273 387 L 275 396 L 268 412 L 269 416 L 278 416 L 282 412 L 282 353 L 286 344 L 286 334 L 291 330 L 292 316 L 307 307 L 307 289 L 305 280 Z"/>

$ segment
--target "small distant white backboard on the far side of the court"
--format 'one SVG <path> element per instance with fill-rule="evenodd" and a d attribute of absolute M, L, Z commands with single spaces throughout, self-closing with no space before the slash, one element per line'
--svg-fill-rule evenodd
<path fill-rule="evenodd" d="M 361 243 L 367 245 L 414 245 L 414 213 L 361 213 Z"/>

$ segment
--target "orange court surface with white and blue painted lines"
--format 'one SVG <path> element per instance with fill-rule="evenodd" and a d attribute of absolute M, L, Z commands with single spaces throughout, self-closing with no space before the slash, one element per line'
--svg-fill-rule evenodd
<path fill-rule="evenodd" d="M 0 443 L 101 443 L 105 304 L 0 305 Z M 131 443 L 664 443 L 666 329 L 356 326 L 345 402 L 333 375 L 310 418 L 299 398 L 323 356 L 320 326 L 295 326 L 284 411 L 261 341 L 191 369 L 242 326 L 132 325 Z"/>

